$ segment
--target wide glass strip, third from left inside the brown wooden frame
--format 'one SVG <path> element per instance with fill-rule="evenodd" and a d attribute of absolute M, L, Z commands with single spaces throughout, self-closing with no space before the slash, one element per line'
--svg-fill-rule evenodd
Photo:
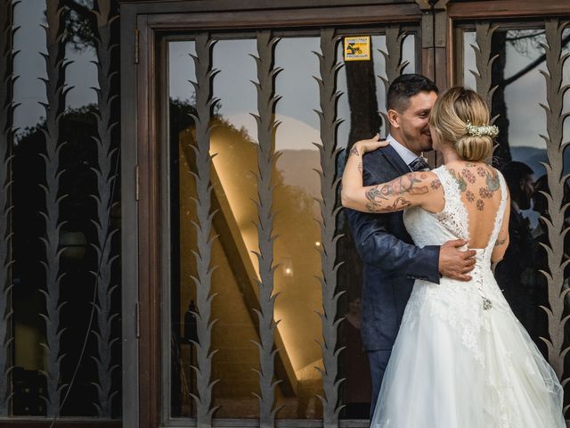
<path fill-rule="evenodd" d="M 321 179 L 315 169 L 321 169 L 320 152 L 313 143 L 320 143 L 319 86 L 313 76 L 319 76 L 319 61 L 312 52 L 320 51 L 318 37 L 283 38 L 275 49 L 275 66 L 283 70 L 278 75 L 275 92 L 282 95 L 277 103 L 276 150 L 281 154 L 276 163 L 274 183 L 275 319 L 283 348 L 281 358 L 287 358 L 293 373 L 289 383 L 296 393 L 282 389 L 278 414 L 286 419 L 322 418 L 322 406 L 317 394 L 322 394 L 322 350 L 317 341 L 322 338 L 321 255 L 318 247 L 321 229 L 316 220 L 321 208 L 315 198 L 321 198 Z"/>

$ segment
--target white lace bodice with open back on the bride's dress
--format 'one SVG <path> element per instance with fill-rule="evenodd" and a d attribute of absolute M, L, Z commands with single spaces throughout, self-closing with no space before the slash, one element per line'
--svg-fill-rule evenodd
<path fill-rule="evenodd" d="M 444 167 L 433 170 L 439 178 L 445 196 L 444 210 L 430 213 L 420 207 L 404 212 L 403 221 L 419 247 L 441 245 L 449 240 L 469 239 L 468 210 L 461 201 L 460 187 L 452 174 Z M 455 281 L 443 277 L 440 284 L 416 281 L 411 298 L 403 316 L 403 325 L 418 322 L 419 308 L 428 304 L 433 317 L 439 317 L 461 332 L 462 343 L 471 350 L 473 357 L 484 364 L 484 355 L 479 343 L 479 332 L 485 327 L 485 313 L 489 309 L 508 311 L 491 271 L 491 254 L 507 204 L 507 186 L 499 174 L 501 202 L 494 216 L 493 231 L 484 249 L 476 250 L 475 269 L 469 273 L 472 280 Z M 429 302 L 429 303 L 428 303 Z"/>

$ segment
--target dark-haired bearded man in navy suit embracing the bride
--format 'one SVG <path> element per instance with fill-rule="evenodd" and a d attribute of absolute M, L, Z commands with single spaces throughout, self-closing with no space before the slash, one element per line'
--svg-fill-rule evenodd
<path fill-rule="evenodd" d="M 404 74 L 395 78 L 387 93 L 390 144 L 364 155 L 364 185 L 385 183 L 412 170 L 429 168 L 419 155 L 432 150 L 428 117 L 437 92 L 436 84 L 424 76 Z M 463 240 L 441 247 L 416 247 L 403 226 L 402 211 L 345 212 L 364 265 L 361 334 L 371 366 L 372 416 L 414 280 L 439 284 L 440 276 L 449 276 L 468 281 L 475 251 L 460 251 L 459 247 L 467 243 Z"/>

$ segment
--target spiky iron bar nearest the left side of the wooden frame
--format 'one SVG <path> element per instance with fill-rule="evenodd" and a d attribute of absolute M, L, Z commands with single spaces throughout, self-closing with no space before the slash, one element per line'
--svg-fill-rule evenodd
<path fill-rule="evenodd" d="M 98 166 L 94 168 L 97 177 L 97 194 L 94 199 L 97 205 L 97 218 L 94 219 L 94 226 L 97 230 L 97 243 L 94 244 L 97 252 L 97 270 L 95 272 L 95 284 L 97 287 L 97 325 L 99 332 L 94 331 L 97 339 L 97 356 L 94 362 L 97 366 L 98 382 L 94 383 L 97 389 L 98 402 L 94 403 L 97 414 L 100 417 L 110 418 L 112 415 L 112 400 L 118 391 L 112 390 L 112 377 L 117 365 L 113 365 L 112 350 L 113 345 L 118 341 L 118 337 L 112 336 L 113 320 L 118 317 L 112 312 L 111 301 L 113 292 L 118 285 L 112 283 L 113 263 L 118 255 L 111 252 L 111 240 L 118 230 L 110 225 L 110 212 L 113 208 L 113 184 L 117 179 L 117 171 L 113 168 L 118 156 L 118 148 L 113 144 L 113 128 L 118 125 L 117 120 L 112 117 L 112 104 L 116 98 L 111 85 L 117 71 L 112 65 L 113 50 L 117 44 L 111 41 L 111 26 L 113 21 L 118 19 L 114 15 L 111 0 L 98 0 L 98 11 L 93 11 L 98 28 L 98 38 L 96 39 L 97 52 L 97 73 L 99 88 L 97 93 L 98 111 L 95 114 L 97 120 L 97 135 L 93 136 L 97 147 Z M 113 16 L 114 15 L 114 16 Z"/>

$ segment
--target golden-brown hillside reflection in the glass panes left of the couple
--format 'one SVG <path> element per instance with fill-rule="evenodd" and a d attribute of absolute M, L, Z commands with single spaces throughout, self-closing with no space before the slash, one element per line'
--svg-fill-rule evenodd
<path fill-rule="evenodd" d="M 213 348 L 219 350 L 214 358 L 214 369 L 215 374 L 224 379 L 224 384 L 217 387 L 219 399 L 240 396 L 241 406 L 244 406 L 242 387 L 246 386 L 248 391 L 257 389 L 255 373 L 243 372 L 246 367 L 258 366 L 256 348 L 250 343 L 250 340 L 258 341 L 255 337 L 257 318 L 252 311 L 259 307 L 255 283 L 258 265 L 253 253 L 258 247 L 256 143 L 244 130 L 233 128 L 224 120 L 216 122 L 211 135 L 211 153 L 216 153 L 211 179 L 212 203 L 218 210 L 214 232 L 219 236 L 213 246 L 212 265 L 220 268 L 213 276 L 212 291 L 218 296 L 213 300 L 212 316 L 220 318 L 220 322 L 214 327 L 212 342 Z M 181 221 L 189 225 L 181 224 L 181 285 L 185 294 L 193 288 L 191 275 L 195 269 L 191 250 L 196 243 L 192 240 L 194 234 L 189 221 L 195 216 L 195 207 L 193 203 L 183 202 L 189 201 L 195 192 L 188 174 L 195 161 L 191 150 L 195 144 L 194 129 L 183 129 L 177 140 L 181 167 L 180 214 Z M 320 240 L 314 221 L 315 207 L 318 207 L 314 197 L 320 191 L 319 176 L 313 169 L 318 165 L 317 151 L 288 151 L 277 161 L 272 175 L 273 211 L 277 213 L 273 235 L 278 236 L 274 243 L 274 264 L 282 265 L 275 270 L 273 284 L 274 292 L 280 292 L 274 317 L 281 320 L 275 334 L 275 345 L 279 349 L 276 375 L 285 381 L 280 385 L 280 392 L 285 396 L 281 399 L 287 399 L 291 393 L 298 400 L 307 399 L 319 393 L 322 382 L 305 370 L 310 364 L 322 365 L 321 351 L 315 342 L 321 335 L 321 323 L 314 314 L 322 308 L 321 289 L 315 278 L 321 275 L 321 259 L 314 249 Z M 184 301 L 181 301 L 183 310 Z M 227 406 L 228 403 L 224 403 L 230 415 Z M 294 407 L 286 405 L 282 417 L 288 408 L 294 411 Z"/>

